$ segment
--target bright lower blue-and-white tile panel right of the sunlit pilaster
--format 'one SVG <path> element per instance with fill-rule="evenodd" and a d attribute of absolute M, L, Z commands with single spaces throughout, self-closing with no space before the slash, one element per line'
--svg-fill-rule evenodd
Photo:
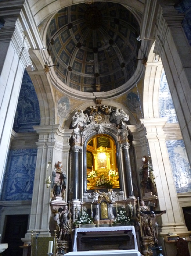
<path fill-rule="evenodd" d="M 166 141 L 177 193 L 191 192 L 191 168 L 183 140 Z"/>

